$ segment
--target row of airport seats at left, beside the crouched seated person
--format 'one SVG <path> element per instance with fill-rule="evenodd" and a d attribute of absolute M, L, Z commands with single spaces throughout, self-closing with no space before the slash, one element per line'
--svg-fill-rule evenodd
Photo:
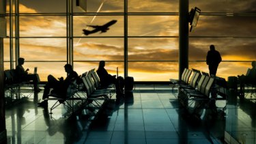
<path fill-rule="evenodd" d="M 63 104 L 69 114 L 79 113 L 83 109 L 90 110 L 90 113 L 96 115 L 98 111 L 106 108 L 106 103 L 113 101 L 111 96 L 115 93 L 114 85 L 109 87 L 100 87 L 100 79 L 94 69 L 89 70 L 79 76 L 77 80 L 70 83 L 66 96 L 51 91 L 48 100 L 56 102 L 51 106 L 52 111 Z"/>

